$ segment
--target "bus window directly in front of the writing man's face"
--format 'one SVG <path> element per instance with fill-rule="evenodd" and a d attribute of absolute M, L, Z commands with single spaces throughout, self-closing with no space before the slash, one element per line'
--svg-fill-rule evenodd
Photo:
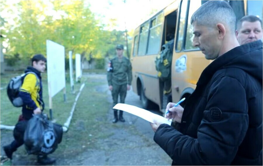
<path fill-rule="evenodd" d="M 186 50 L 198 49 L 192 46 L 194 34 L 193 34 L 193 26 L 191 25 L 191 17 L 193 16 L 193 13 L 200 6 L 201 6 L 201 1 L 190 1 L 188 21 L 187 21 L 187 31 L 186 31 L 186 43 L 185 43 Z"/>

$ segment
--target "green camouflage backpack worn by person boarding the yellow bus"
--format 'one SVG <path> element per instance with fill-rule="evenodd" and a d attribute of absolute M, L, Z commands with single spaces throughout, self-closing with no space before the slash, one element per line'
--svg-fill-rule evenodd
<path fill-rule="evenodd" d="M 162 81 L 171 78 L 171 64 L 173 56 L 174 40 L 162 45 L 162 51 L 155 59 L 155 68 L 158 71 L 158 77 Z"/>

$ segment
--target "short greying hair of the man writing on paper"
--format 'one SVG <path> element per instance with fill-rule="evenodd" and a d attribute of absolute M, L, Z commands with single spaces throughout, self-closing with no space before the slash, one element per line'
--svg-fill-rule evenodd
<path fill-rule="evenodd" d="M 236 15 L 226 1 L 208 1 L 203 4 L 191 17 L 191 24 L 215 27 L 217 23 L 227 25 L 231 32 L 235 32 Z"/>

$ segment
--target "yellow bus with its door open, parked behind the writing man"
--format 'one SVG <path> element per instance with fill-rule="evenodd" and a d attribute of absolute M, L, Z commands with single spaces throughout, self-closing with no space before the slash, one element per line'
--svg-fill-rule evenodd
<path fill-rule="evenodd" d="M 171 97 L 169 101 L 186 100 L 193 93 L 200 74 L 211 60 L 206 60 L 199 48 L 192 47 L 192 26 L 190 19 L 193 13 L 206 1 L 174 1 L 150 17 L 134 30 L 131 48 L 132 88 L 140 95 L 143 108 L 151 102 L 163 108 L 163 82 L 155 69 L 155 58 L 160 54 L 161 46 L 170 36 L 174 36 L 174 47 L 171 65 Z M 244 15 L 258 15 L 262 19 L 262 1 L 228 1 L 237 20 Z M 256 13 L 255 13 L 256 11 Z M 185 101 L 186 101 L 185 100 Z M 184 103 L 182 103 L 184 105 Z"/>

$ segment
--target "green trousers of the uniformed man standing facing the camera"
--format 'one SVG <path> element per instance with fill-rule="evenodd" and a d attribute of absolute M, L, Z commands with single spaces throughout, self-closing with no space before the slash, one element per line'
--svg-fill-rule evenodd
<path fill-rule="evenodd" d="M 112 87 L 113 89 L 111 91 L 111 95 L 112 95 L 113 107 L 114 107 L 118 103 L 119 95 L 120 95 L 120 103 L 124 103 L 127 94 L 127 84 L 117 85 L 113 83 Z"/>

